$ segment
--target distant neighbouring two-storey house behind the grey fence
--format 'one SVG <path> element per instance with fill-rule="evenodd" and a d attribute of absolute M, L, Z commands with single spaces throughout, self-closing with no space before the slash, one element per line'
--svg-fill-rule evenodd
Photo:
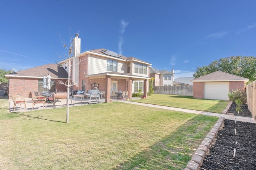
<path fill-rule="evenodd" d="M 158 70 L 150 67 L 150 77 L 155 78 L 154 86 L 173 86 L 174 70 Z"/>

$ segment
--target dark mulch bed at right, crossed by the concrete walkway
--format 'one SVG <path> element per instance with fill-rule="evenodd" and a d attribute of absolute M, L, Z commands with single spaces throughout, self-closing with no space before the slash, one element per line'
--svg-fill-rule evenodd
<path fill-rule="evenodd" d="M 252 117 L 247 105 L 242 110 L 239 116 Z M 228 112 L 237 112 L 236 104 Z M 200 170 L 256 170 L 256 124 L 225 119 Z"/>

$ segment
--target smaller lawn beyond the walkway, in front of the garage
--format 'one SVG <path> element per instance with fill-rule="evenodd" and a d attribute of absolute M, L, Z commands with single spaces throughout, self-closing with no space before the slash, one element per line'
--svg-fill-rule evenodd
<path fill-rule="evenodd" d="M 194 99 L 192 96 L 179 96 L 170 94 L 152 94 L 152 96 L 148 96 L 146 99 L 136 99 L 131 101 L 199 111 L 208 111 L 213 113 L 222 113 L 222 111 L 229 103 L 228 101 L 223 100 Z"/>

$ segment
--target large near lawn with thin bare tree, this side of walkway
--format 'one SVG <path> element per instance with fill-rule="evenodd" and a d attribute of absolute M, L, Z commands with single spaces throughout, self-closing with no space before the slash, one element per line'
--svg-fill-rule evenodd
<path fill-rule="evenodd" d="M 8 113 L 1 169 L 183 169 L 218 117 L 120 102 Z"/>

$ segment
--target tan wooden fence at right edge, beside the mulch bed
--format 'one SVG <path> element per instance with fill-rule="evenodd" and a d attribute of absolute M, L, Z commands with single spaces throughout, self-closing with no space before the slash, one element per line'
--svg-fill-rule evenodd
<path fill-rule="evenodd" d="M 248 109 L 252 113 L 252 118 L 256 120 L 256 81 L 246 86 L 246 96 Z"/>

